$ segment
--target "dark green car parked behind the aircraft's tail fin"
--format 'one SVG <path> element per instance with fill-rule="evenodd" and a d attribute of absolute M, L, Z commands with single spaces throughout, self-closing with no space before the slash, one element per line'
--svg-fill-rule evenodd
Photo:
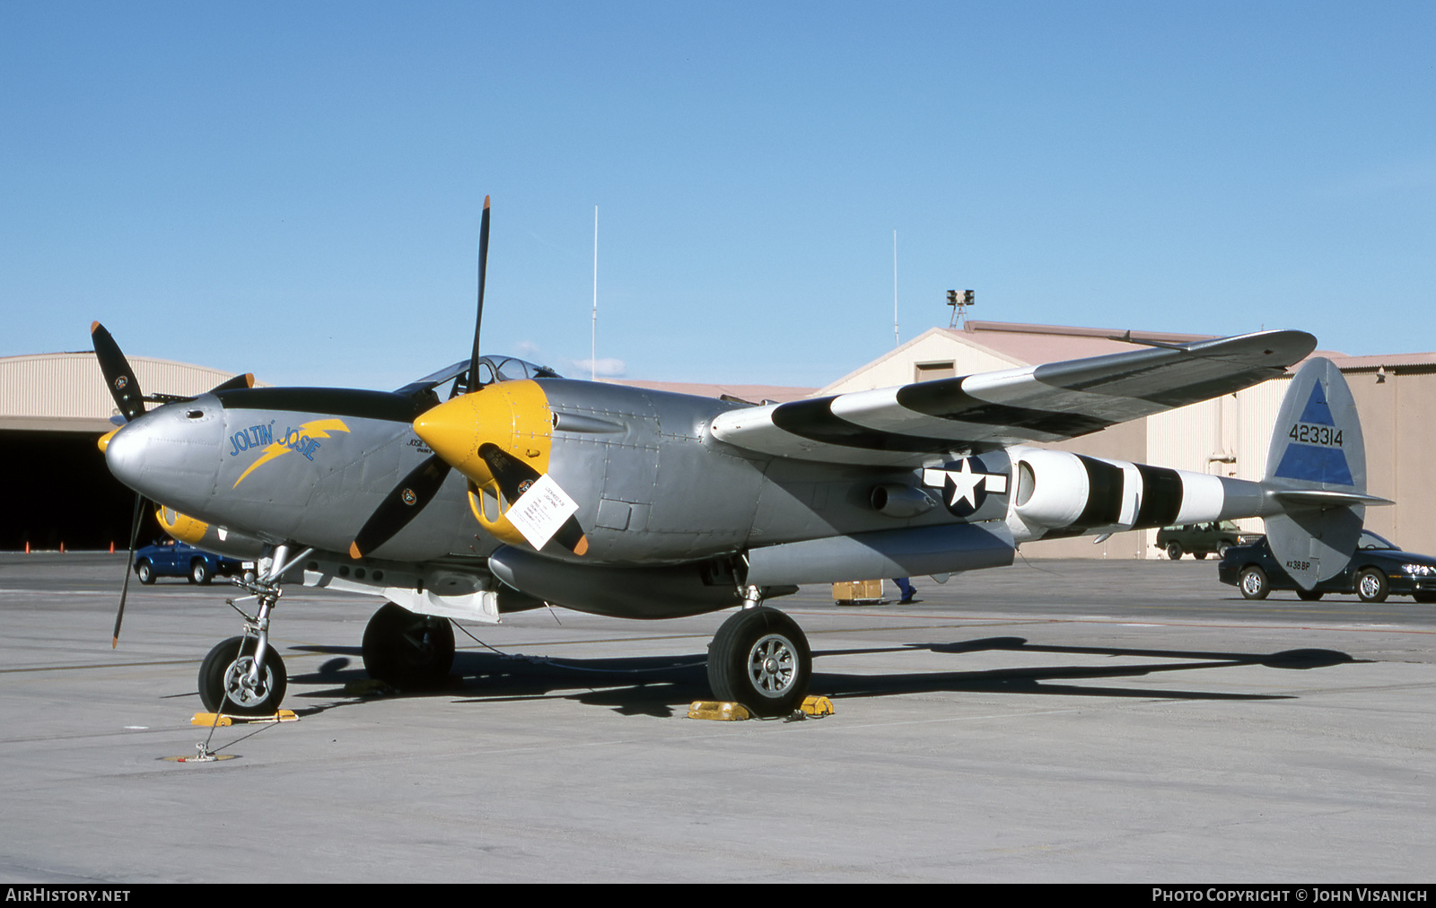
<path fill-rule="evenodd" d="M 1346 569 L 1314 589 L 1297 586 L 1277 563 L 1265 536 L 1254 545 L 1228 549 L 1216 566 L 1216 576 L 1241 589 L 1248 599 L 1265 599 L 1274 589 L 1294 589 L 1307 601 L 1325 593 L 1356 593 L 1363 602 L 1383 602 L 1396 593 L 1417 602 L 1436 602 L 1436 557 L 1402 552 L 1371 530 L 1361 530 Z"/>

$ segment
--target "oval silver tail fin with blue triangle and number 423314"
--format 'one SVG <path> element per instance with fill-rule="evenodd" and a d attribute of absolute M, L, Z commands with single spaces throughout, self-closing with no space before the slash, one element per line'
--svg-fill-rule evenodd
<path fill-rule="evenodd" d="M 1347 566 L 1367 504 L 1390 504 L 1366 493 L 1361 421 L 1346 378 L 1330 359 L 1307 361 L 1291 379 L 1262 487 L 1282 511 L 1267 517 L 1267 542 L 1302 589 Z"/>

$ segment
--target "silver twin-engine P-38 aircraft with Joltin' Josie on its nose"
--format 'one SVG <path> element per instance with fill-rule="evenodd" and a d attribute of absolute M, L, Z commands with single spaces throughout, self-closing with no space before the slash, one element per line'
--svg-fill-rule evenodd
<path fill-rule="evenodd" d="M 1315 348 L 1304 332 L 751 405 L 480 355 L 488 226 L 485 198 L 470 358 L 396 391 L 240 376 L 145 398 L 92 326 L 128 420 L 101 441 L 109 468 L 175 537 L 257 562 L 244 636 L 201 665 L 208 708 L 279 707 L 269 626 L 286 583 L 388 599 L 363 662 L 399 687 L 448 674 L 451 618 L 738 606 L 709 645 L 712 692 L 778 715 L 807 692 L 811 654 L 765 602 L 800 583 L 958 573 L 1011 565 L 1028 540 L 1261 516 L 1310 588 L 1347 563 L 1364 506 L 1384 503 L 1366 494 L 1356 405 L 1325 359 L 1292 379 L 1262 481 L 1028 447 L 1282 375 Z"/>

